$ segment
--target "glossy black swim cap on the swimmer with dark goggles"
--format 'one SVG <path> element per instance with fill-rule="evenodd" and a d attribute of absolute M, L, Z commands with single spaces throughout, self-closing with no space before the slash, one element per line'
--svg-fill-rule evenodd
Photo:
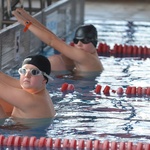
<path fill-rule="evenodd" d="M 87 39 L 91 43 L 93 43 L 93 45 L 96 47 L 96 45 L 97 45 L 97 30 L 91 24 L 81 25 L 77 28 L 74 39 L 78 39 L 78 40 Z"/>

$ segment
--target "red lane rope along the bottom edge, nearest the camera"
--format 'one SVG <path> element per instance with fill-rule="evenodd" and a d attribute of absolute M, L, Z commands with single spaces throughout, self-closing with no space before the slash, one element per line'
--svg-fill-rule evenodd
<path fill-rule="evenodd" d="M 41 137 L 21 137 L 0 135 L 0 147 L 36 147 L 36 148 L 63 148 L 63 149 L 93 149 L 93 150 L 150 150 L 148 143 L 116 142 L 105 140 L 84 140 L 84 139 L 52 139 Z"/>

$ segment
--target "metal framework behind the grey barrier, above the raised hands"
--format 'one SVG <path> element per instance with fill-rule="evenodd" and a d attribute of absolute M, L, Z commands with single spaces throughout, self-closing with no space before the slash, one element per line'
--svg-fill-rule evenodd
<path fill-rule="evenodd" d="M 0 0 L 0 29 L 13 24 L 12 11 L 23 7 L 30 14 L 35 14 L 51 5 L 52 0 Z"/>

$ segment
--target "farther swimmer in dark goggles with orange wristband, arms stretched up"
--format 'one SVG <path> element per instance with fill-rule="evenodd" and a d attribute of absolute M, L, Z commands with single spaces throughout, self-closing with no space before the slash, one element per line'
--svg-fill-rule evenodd
<path fill-rule="evenodd" d="M 104 68 L 96 50 L 97 31 L 93 25 L 80 26 L 75 34 L 74 46 L 71 46 L 58 38 L 24 9 L 16 9 L 13 11 L 13 15 L 26 29 L 61 53 L 49 57 L 52 71 L 69 70 L 74 73 L 103 71 Z"/>

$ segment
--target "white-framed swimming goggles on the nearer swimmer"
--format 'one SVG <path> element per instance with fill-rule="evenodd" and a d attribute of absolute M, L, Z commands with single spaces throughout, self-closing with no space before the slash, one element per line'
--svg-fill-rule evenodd
<path fill-rule="evenodd" d="M 53 80 L 52 77 L 50 77 L 49 75 L 47 75 L 45 72 L 40 71 L 39 69 L 26 69 L 26 68 L 19 68 L 18 69 L 18 73 L 20 75 L 25 75 L 27 72 L 29 72 L 32 76 L 43 75 L 43 76 L 47 77 L 48 79 Z"/>

